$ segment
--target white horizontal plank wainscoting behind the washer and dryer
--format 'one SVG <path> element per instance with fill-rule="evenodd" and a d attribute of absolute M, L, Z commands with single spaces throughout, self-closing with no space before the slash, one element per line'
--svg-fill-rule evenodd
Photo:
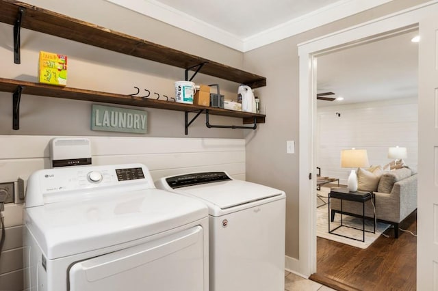
<path fill-rule="evenodd" d="M 50 167 L 52 136 L 0 135 L 0 183 L 27 179 Z M 87 137 L 92 164 L 143 163 L 153 180 L 191 171 L 227 171 L 245 180 L 244 139 Z M 5 245 L 0 261 L 0 290 L 23 290 L 23 204 L 5 205 Z"/>

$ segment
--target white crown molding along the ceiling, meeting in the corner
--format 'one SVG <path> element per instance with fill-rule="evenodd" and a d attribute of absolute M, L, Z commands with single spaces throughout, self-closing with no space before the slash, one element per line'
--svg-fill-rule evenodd
<path fill-rule="evenodd" d="M 155 0 L 106 1 L 246 52 L 393 0 L 340 0 L 244 39 Z"/>

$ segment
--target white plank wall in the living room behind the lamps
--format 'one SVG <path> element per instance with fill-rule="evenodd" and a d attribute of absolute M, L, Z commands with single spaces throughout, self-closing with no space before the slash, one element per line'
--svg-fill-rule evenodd
<path fill-rule="evenodd" d="M 417 111 L 417 98 L 318 107 L 315 145 L 321 175 L 346 184 L 352 169 L 341 167 L 341 150 L 351 148 L 367 150 L 370 165 L 386 165 L 394 160 L 387 158 L 388 148 L 404 147 L 405 163 L 416 169 Z"/>

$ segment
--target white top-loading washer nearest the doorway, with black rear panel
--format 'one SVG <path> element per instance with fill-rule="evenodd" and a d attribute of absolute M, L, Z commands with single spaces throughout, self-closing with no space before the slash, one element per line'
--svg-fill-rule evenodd
<path fill-rule="evenodd" d="M 209 207 L 210 291 L 283 291 L 285 193 L 207 172 L 162 178 L 159 189 Z"/>

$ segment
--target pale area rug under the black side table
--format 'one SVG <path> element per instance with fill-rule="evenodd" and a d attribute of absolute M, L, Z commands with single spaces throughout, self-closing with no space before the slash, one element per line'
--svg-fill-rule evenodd
<path fill-rule="evenodd" d="M 327 201 L 329 197 L 329 191 L 330 188 L 327 187 L 321 187 L 321 190 L 318 191 L 318 194 L 322 196 L 322 199 Z M 376 224 L 376 233 L 370 233 L 365 232 L 365 242 L 361 242 L 359 240 L 353 240 L 351 238 L 357 238 L 362 239 L 363 238 L 363 232 L 362 230 L 355 230 L 351 227 L 339 227 L 337 230 L 335 230 L 336 234 L 342 234 L 344 236 L 348 236 L 349 238 L 344 238 L 343 236 L 337 236 L 335 234 L 329 234 L 329 209 L 328 205 L 322 205 L 321 199 L 318 199 L 318 207 L 317 208 L 317 230 L 316 235 L 320 238 L 326 238 L 328 240 L 334 240 L 338 243 L 344 243 L 346 245 L 351 245 L 353 247 L 359 247 L 361 249 L 366 249 L 368 246 L 370 246 L 372 243 L 374 243 L 374 240 L 378 238 L 387 228 L 390 226 L 386 223 L 378 222 Z M 333 223 L 330 223 L 330 228 L 333 230 L 337 226 L 341 224 L 341 214 L 335 215 L 335 221 Z M 352 227 L 360 228 L 362 229 L 362 219 L 358 217 L 350 217 L 348 215 L 343 216 L 343 225 L 350 225 Z M 370 221 L 370 219 L 365 219 L 365 230 L 373 230 L 373 223 Z"/>

